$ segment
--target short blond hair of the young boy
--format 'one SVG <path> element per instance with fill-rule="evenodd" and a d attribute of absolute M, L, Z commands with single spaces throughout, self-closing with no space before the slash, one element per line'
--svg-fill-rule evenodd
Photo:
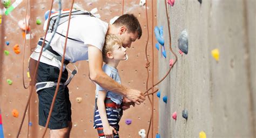
<path fill-rule="evenodd" d="M 122 40 L 116 34 L 107 34 L 105 37 L 105 43 L 102 49 L 103 61 L 107 63 L 107 52 L 111 52 L 113 50 L 113 45 L 119 44 L 122 46 Z"/>

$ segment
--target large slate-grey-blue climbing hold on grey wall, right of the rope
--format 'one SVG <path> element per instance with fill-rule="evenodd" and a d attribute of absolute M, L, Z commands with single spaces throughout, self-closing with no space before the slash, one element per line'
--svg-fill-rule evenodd
<path fill-rule="evenodd" d="M 187 31 L 186 29 L 183 30 L 181 33 L 180 33 L 180 36 L 179 36 L 179 39 L 178 39 L 178 47 L 179 49 L 187 54 L 188 52 L 188 36 L 187 36 Z"/>

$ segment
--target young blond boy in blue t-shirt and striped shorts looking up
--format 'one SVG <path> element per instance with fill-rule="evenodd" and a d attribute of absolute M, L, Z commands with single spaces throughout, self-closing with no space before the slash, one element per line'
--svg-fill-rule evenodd
<path fill-rule="evenodd" d="M 121 84 L 117 70 L 119 61 L 126 60 L 126 49 L 122 46 L 121 39 L 115 34 L 108 34 L 105 38 L 105 44 L 102 50 L 103 71 L 113 80 Z M 123 114 L 120 107 L 123 96 L 106 91 L 104 88 L 96 85 L 96 108 L 93 127 L 97 129 L 99 137 L 119 137 L 118 122 Z M 114 132 L 114 133 L 113 133 Z"/>

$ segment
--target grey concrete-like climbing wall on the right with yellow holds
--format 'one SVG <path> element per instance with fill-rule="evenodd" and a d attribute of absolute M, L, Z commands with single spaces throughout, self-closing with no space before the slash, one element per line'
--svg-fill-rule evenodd
<path fill-rule="evenodd" d="M 157 1 L 157 25 L 164 28 L 168 49 L 164 2 Z M 255 1 L 201 2 L 182 0 L 167 5 L 178 61 L 159 85 L 160 137 L 255 137 Z M 188 53 L 181 55 L 178 39 L 184 29 Z M 158 53 L 159 78 L 174 59 L 166 51 L 166 59 Z M 182 116 L 184 109 L 187 120 Z M 174 112 L 177 120 L 172 118 Z"/>

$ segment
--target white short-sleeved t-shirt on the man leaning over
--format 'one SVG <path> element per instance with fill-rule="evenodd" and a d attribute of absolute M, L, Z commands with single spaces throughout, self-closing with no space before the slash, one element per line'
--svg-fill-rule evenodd
<path fill-rule="evenodd" d="M 45 21 L 47 24 L 47 22 Z M 105 42 L 105 35 L 107 33 L 109 24 L 103 22 L 99 18 L 91 16 L 73 16 L 70 19 L 70 27 L 68 37 L 72 39 L 79 40 L 77 42 L 72 39 L 67 40 L 65 59 L 75 63 L 79 60 L 88 59 L 88 46 L 93 45 L 97 47 L 100 51 L 103 49 Z M 68 22 L 64 22 L 58 26 L 57 32 L 66 36 L 68 30 Z M 56 51 L 60 56 L 63 56 L 65 37 L 60 36 L 58 33 L 55 33 L 51 41 L 51 47 Z M 52 37 L 52 33 L 48 33 L 45 40 L 49 41 Z M 31 58 L 38 60 L 38 54 L 31 54 Z M 56 66 L 60 68 L 60 62 L 52 62 L 41 57 L 40 61 L 45 64 Z"/>

